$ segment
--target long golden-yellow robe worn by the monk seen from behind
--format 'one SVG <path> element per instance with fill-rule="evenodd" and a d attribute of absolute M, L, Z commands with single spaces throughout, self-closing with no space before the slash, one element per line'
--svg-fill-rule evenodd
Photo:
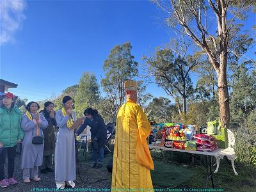
<path fill-rule="evenodd" d="M 111 191 L 154 191 L 150 175 L 154 164 L 146 140 L 151 131 L 147 116 L 138 104 L 127 100 L 118 111 L 116 125 Z"/>

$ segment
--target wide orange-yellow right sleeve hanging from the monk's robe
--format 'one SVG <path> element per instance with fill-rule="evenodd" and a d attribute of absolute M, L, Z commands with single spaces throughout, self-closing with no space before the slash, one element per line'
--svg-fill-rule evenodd
<path fill-rule="evenodd" d="M 147 120 L 147 116 L 145 115 L 140 106 L 136 108 L 136 118 L 139 130 L 136 145 L 137 161 L 142 166 L 145 166 L 150 170 L 154 170 L 154 163 L 150 155 L 147 143 L 147 138 L 150 135 L 151 127 L 150 123 Z"/>

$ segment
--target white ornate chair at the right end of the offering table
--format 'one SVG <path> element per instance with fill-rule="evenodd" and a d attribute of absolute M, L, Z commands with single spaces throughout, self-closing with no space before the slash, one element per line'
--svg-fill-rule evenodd
<path fill-rule="evenodd" d="M 221 150 L 220 154 L 218 154 L 218 156 L 216 157 L 216 163 L 214 164 L 214 166 L 217 164 L 216 170 L 214 171 L 214 173 L 217 173 L 219 170 L 219 166 L 220 166 L 220 159 L 223 159 L 223 157 L 227 157 L 232 164 L 232 168 L 234 170 L 235 175 L 238 175 L 235 169 L 235 165 L 234 165 L 234 161 L 236 159 L 236 154 L 234 151 L 234 145 L 235 145 L 235 136 L 233 134 L 232 131 L 230 131 L 230 129 L 227 130 L 228 131 L 228 148 L 225 148 L 223 150 Z"/>

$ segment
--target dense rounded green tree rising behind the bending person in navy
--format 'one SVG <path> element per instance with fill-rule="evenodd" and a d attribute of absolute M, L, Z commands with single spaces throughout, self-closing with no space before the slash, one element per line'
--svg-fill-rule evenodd
<path fill-rule="evenodd" d="M 95 108 L 100 100 L 99 85 L 94 74 L 84 72 L 79 80 L 75 96 L 75 111 L 77 116 L 83 116 L 84 109 Z"/>

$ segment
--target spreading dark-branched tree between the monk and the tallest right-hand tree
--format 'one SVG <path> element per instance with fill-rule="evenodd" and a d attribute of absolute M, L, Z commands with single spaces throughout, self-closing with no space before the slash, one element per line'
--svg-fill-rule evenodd
<path fill-rule="evenodd" d="M 156 49 L 156 56 L 144 56 L 143 60 L 147 61 L 148 76 L 153 76 L 156 84 L 173 99 L 182 98 L 183 107 L 178 107 L 186 114 L 186 99 L 193 93 L 189 72 L 198 64 L 196 58 L 189 55 L 185 58 L 185 55 L 176 55 L 174 51 L 166 48 Z"/>

